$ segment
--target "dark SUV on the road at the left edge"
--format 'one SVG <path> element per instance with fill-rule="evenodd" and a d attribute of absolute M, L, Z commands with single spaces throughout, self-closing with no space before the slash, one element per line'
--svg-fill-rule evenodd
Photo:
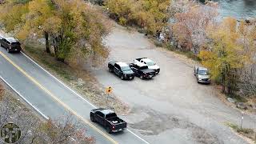
<path fill-rule="evenodd" d="M 8 53 L 22 50 L 21 43 L 16 38 L 0 38 L 0 45 L 6 48 Z"/>

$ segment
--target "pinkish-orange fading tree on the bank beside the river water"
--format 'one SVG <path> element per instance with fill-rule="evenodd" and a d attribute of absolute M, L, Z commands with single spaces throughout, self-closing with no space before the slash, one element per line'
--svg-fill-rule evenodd
<path fill-rule="evenodd" d="M 182 2 L 182 6 L 184 9 L 177 10 L 180 12 L 174 14 L 175 22 L 171 25 L 174 39 L 182 50 L 198 54 L 208 41 L 207 26 L 214 23 L 218 16 L 217 6 L 215 3 L 200 5 L 188 1 Z"/>

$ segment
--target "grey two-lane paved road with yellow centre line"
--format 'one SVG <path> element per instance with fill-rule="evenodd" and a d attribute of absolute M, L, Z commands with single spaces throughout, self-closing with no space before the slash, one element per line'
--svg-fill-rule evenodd
<path fill-rule="evenodd" d="M 86 134 L 93 136 L 97 143 L 146 143 L 130 130 L 107 134 L 102 126 L 90 122 L 89 114 L 94 106 L 24 54 L 8 54 L 0 47 L 0 77 L 44 117 L 60 118 L 68 113 L 74 114 L 74 119 L 83 123 Z"/>

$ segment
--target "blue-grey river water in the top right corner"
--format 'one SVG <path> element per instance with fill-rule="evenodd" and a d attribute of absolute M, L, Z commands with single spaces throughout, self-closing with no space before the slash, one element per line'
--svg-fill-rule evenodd
<path fill-rule="evenodd" d="M 256 18 L 256 0 L 215 0 L 222 18 Z"/>

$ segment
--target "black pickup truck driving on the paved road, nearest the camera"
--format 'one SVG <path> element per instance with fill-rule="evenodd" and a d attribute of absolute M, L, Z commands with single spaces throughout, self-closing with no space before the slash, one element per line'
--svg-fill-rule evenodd
<path fill-rule="evenodd" d="M 122 131 L 127 126 L 127 123 L 121 118 L 118 118 L 113 110 L 103 108 L 91 110 L 90 120 L 104 126 L 108 133 Z"/>

